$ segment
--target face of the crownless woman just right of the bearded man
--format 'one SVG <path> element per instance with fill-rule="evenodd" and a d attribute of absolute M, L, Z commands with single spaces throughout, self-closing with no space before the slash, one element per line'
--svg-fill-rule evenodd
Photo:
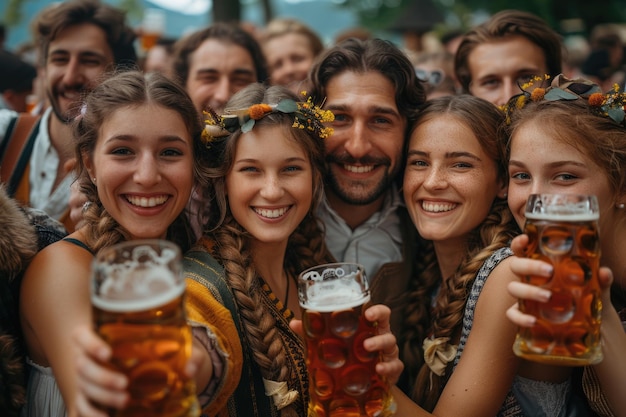
<path fill-rule="evenodd" d="M 464 244 L 505 188 L 496 162 L 472 130 L 444 114 L 430 117 L 413 131 L 403 190 L 422 237 Z"/>

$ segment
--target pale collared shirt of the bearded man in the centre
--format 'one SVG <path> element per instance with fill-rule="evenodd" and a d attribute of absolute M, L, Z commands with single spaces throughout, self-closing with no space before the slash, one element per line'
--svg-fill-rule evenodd
<path fill-rule="evenodd" d="M 398 207 L 404 202 L 397 187 L 385 195 L 383 207 L 352 230 L 323 200 L 317 215 L 326 228 L 326 245 L 338 261 L 365 267 L 370 279 L 383 264 L 402 260 L 402 232 Z"/>

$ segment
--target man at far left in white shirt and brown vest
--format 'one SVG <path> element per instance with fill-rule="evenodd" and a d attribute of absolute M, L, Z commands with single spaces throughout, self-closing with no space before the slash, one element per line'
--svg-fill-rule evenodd
<path fill-rule="evenodd" d="M 125 14 L 97 0 L 54 4 L 35 18 L 41 46 L 48 110 L 32 131 L 18 129 L 18 114 L 0 111 L 0 150 L 7 150 L 2 164 L 20 161 L 1 178 L 13 184 L 13 195 L 24 204 L 45 211 L 73 230 L 69 219 L 73 175 L 66 164 L 74 158 L 71 122 L 80 114 L 83 96 L 116 65 L 133 65 L 135 34 Z M 20 118 L 22 123 L 24 118 Z M 28 136 L 26 136 L 29 134 Z M 12 155 L 7 141 L 26 139 L 24 151 Z"/>

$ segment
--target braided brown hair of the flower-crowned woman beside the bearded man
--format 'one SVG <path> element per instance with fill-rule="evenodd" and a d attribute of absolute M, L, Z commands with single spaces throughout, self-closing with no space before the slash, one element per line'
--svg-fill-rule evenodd
<path fill-rule="evenodd" d="M 284 87 L 267 88 L 253 84 L 235 94 L 227 108 L 246 108 L 260 103 L 275 104 L 283 98 L 297 100 L 297 97 Z M 292 125 L 293 116 L 281 112 L 265 115 L 256 120 L 254 125 L 255 130 L 264 129 L 264 126 L 282 127 L 285 135 L 301 146 L 311 161 L 313 204 L 289 237 L 284 260 L 284 270 L 288 279 L 295 279 L 298 273 L 310 266 L 332 261 L 326 249 L 323 231 L 314 214 L 322 196 L 324 144 L 322 139 L 307 129 L 293 128 Z M 227 139 L 211 143 L 214 187 L 208 193 L 213 195 L 209 205 L 210 221 L 205 234 L 214 241 L 212 255 L 224 266 L 227 282 L 235 295 L 243 319 L 246 342 L 263 378 L 289 383 L 294 370 L 289 366 L 288 347 L 283 343 L 276 320 L 262 300 L 263 290 L 259 278 L 263 277 L 258 276 L 252 262 L 251 236 L 232 216 L 225 191 L 226 175 L 232 168 L 237 141 L 241 134 L 238 130 Z M 304 410 L 298 410 L 297 404 L 291 403 L 278 412 L 283 417 L 296 417 L 302 415 Z"/>

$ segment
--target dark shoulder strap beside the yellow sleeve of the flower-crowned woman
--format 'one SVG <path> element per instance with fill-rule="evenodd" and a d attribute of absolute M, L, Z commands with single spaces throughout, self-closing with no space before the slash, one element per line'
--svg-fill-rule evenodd
<path fill-rule="evenodd" d="M 211 290 L 210 287 L 215 288 L 219 292 L 216 298 L 230 311 L 243 349 L 241 379 L 233 394 L 234 403 L 232 405 L 237 409 L 237 416 L 258 416 L 259 410 L 264 408 L 263 405 L 260 405 L 260 402 L 267 401 L 269 398 L 265 395 L 260 371 L 254 366 L 255 363 L 252 360 L 250 346 L 245 343 L 247 337 L 245 336 L 243 323 L 241 323 L 239 308 L 235 302 L 235 295 L 226 282 L 224 267 L 208 252 L 191 250 L 185 255 L 183 269 L 185 272 L 191 273 L 188 276 L 206 286 L 209 290 Z M 212 277 L 210 282 L 203 278 L 208 275 L 209 271 Z M 213 291 L 211 292 L 213 293 Z"/>

